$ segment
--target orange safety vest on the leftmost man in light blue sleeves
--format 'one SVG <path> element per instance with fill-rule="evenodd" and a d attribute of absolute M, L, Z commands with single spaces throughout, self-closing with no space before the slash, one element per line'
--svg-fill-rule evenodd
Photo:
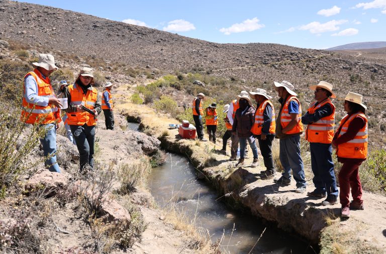
<path fill-rule="evenodd" d="M 38 96 L 46 98 L 55 98 L 55 93 L 52 89 L 50 79 L 43 78 L 43 75 L 35 69 L 27 73 L 27 76 L 33 76 L 38 84 Z M 33 103 L 28 103 L 26 100 L 26 87 L 24 86 L 24 97 L 22 102 L 22 113 L 20 119 L 26 123 L 48 124 L 53 122 L 60 122 L 60 110 L 54 105 L 39 106 Z"/>

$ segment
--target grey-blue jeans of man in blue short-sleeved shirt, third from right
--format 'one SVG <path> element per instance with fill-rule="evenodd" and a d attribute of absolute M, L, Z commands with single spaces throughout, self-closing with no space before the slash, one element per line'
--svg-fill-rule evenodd
<path fill-rule="evenodd" d="M 296 181 L 296 187 L 306 187 L 306 177 L 304 175 L 303 160 L 300 155 L 300 135 L 290 136 L 280 139 L 279 159 L 284 168 L 282 176 L 291 180 L 291 169 Z"/>

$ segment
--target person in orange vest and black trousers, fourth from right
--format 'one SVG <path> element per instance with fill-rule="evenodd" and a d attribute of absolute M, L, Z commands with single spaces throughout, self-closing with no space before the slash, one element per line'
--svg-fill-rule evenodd
<path fill-rule="evenodd" d="M 261 155 L 263 156 L 265 171 L 261 172 L 261 179 L 271 179 L 276 174 L 272 158 L 272 142 L 275 138 L 276 121 L 275 110 L 270 101 L 272 98 L 267 91 L 257 88 L 255 92 L 249 92 L 257 102 L 254 123 L 251 132 L 257 138 Z"/>

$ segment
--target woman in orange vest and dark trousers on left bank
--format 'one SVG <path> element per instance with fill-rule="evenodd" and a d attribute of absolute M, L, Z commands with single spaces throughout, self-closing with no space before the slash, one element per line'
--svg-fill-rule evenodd
<path fill-rule="evenodd" d="M 94 166 L 95 118 L 102 109 L 101 96 L 91 86 L 93 83 L 91 68 L 82 67 L 75 83 L 64 94 L 68 98 L 67 120 L 79 151 L 80 171 L 87 164 Z"/>

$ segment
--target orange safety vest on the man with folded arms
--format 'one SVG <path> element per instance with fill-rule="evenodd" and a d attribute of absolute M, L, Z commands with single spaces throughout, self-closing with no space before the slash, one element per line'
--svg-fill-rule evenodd
<path fill-rule="evenodd" d="M 309 114 L 315 113 L 318 108 L 326 104 L 330 104 L 332 113 L 307 125 L 306 140 L 311 143 L 331 144 L 332 138 L 334 137 L 335 106 L 330 99 L 326 99 L 315 106 L 317 102 L 318 101 L 315 101 L 310 105 L 308 108 Z"/>

